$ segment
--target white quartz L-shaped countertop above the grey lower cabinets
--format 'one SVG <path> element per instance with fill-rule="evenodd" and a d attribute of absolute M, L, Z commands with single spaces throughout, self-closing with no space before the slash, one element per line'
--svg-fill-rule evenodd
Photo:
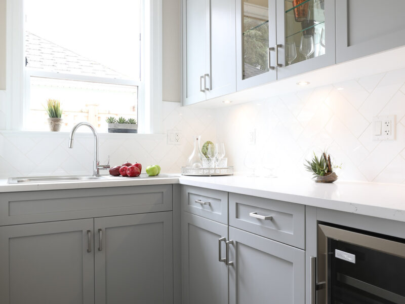
<path fill-rule="evenodd" d="M 106 177 L 101 180 L 8 184 L 0 179 L 0 193 L 135 185 L 192 185 L 220 191 L 287 201 L 381 218 L 405 221 L 405 185 L 338 180 L 332 184 L 285 178 L 234 176 L 181 176 L 162 174 L 138 178 Z"/>

